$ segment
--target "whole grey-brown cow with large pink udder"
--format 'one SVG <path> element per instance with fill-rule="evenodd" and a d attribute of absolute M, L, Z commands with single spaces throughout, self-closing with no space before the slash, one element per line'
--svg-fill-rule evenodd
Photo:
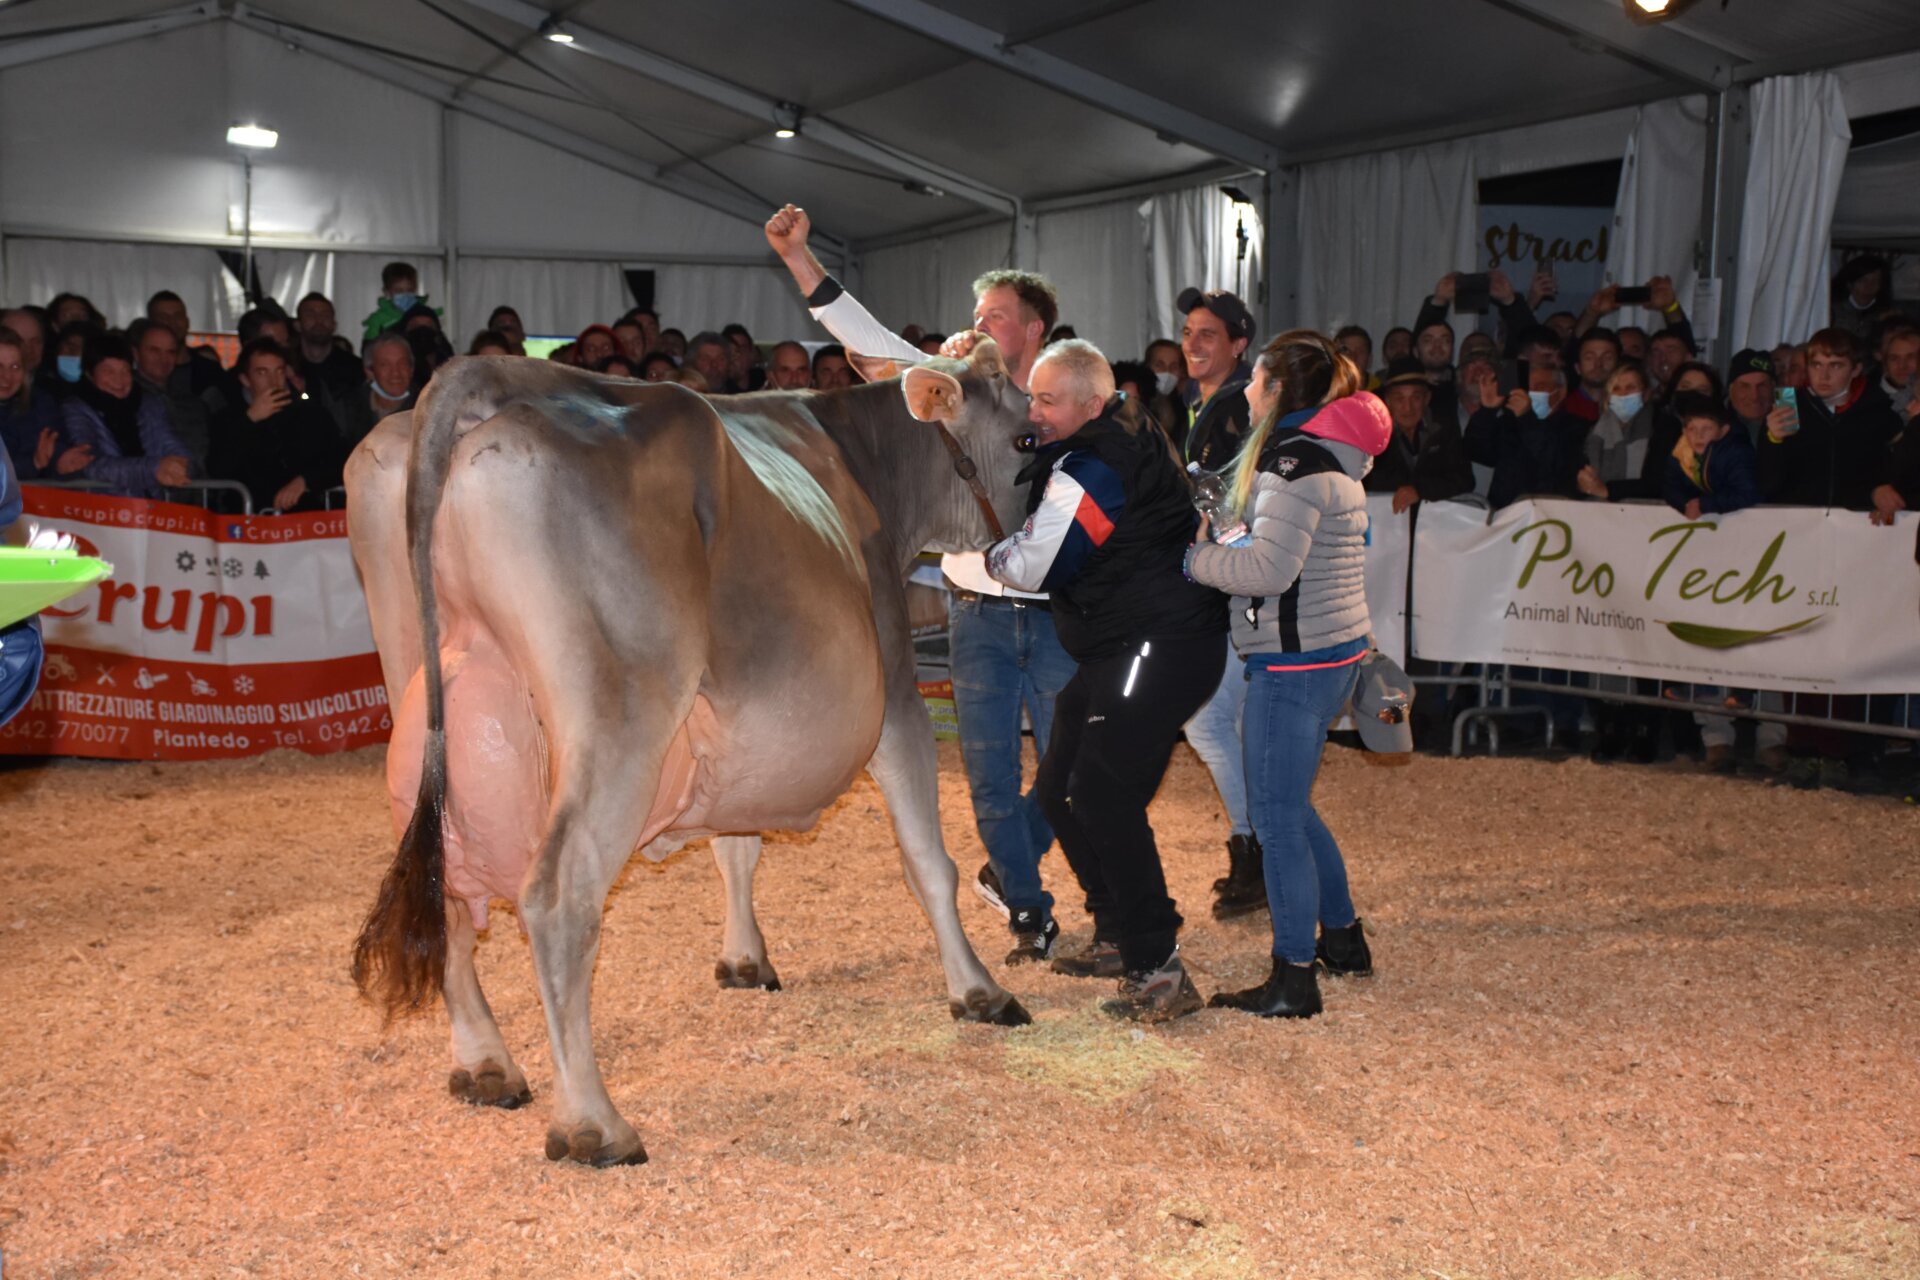
<path fill-rule="evenodd" d="M 904 606 L 922 547 L 993 539 L 925 422 L 977 459 L 1010 524 L 1025 403 L 991 344 L 902 382 L 714 399 L 470 357 L 361 443 L 349 535 L 396 708 L 403 837 L 353 975 L 390 1017 L 445 996 L 457 1096 L 528 1100 L 474 975 L 501 896 L 553 1042 L 547 1155 L 645 1159 L 588 1019 L 609 887 L 636 848 L 718 837 L 720 983 L 778 988 L 755 833 L 812 825 L 862 768 L 954 1017 L 1027 1021 L 960 929 Z"/>

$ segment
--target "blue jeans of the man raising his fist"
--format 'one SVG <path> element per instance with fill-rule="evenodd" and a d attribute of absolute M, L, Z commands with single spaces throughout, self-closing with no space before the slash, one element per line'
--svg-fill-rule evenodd
<path fill-rule="evenodd" d="M 960 720 L 960 760 L 973 796 L 973 823 L 1000 877 L 1008 910 L 1050 912 L 1041 858 L 1054 833 L 1031 793 L 1021 793 L 1020 712 L 1033 723 L 1033 748 L 1046 756 L 1054 697 L 1079 670 L 1054 633 L 1054 616 L 1002 599 L 954 601 L 947 608 L 947 652 Z"/>

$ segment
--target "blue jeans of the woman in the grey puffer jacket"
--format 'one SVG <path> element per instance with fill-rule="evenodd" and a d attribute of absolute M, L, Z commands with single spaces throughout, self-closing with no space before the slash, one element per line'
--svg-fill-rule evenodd
<path fill-rule="evenodd" d="M 1359 664 L 1269 672 L 1256 658 L 1246 672 L 1246 798 L 1267 873 L 1273 954 L 1306 965 L 1313 963 L 1315 921 L 1329 929 L 1354 923 L 1346 862 L 1313 812 L 1313 775 Z"/>

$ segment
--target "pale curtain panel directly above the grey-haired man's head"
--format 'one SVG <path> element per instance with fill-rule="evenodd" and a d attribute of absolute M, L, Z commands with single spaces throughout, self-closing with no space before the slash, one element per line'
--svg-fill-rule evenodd
<path fill-rule="evenodd" d="M 1140 207 L 1119 200 L 1035 219 L 1037 271 L 1060 290 L 1060 322 L 1071 324 L 1110 361 L 1137 361 L 1150 338 L 1177 332 L 1154 324 Z"/>

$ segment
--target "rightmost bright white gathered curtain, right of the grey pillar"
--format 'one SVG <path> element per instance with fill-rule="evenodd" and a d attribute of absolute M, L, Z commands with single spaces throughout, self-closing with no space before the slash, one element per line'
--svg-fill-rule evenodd
<path fill-rule="evenodd" d="M 1826 324 L 1826 251 L 1851 140 L 1847 104 L 1832 71 L 1782 75 L 1753 86 L 1734 349 L 1805 342 Z"/>

